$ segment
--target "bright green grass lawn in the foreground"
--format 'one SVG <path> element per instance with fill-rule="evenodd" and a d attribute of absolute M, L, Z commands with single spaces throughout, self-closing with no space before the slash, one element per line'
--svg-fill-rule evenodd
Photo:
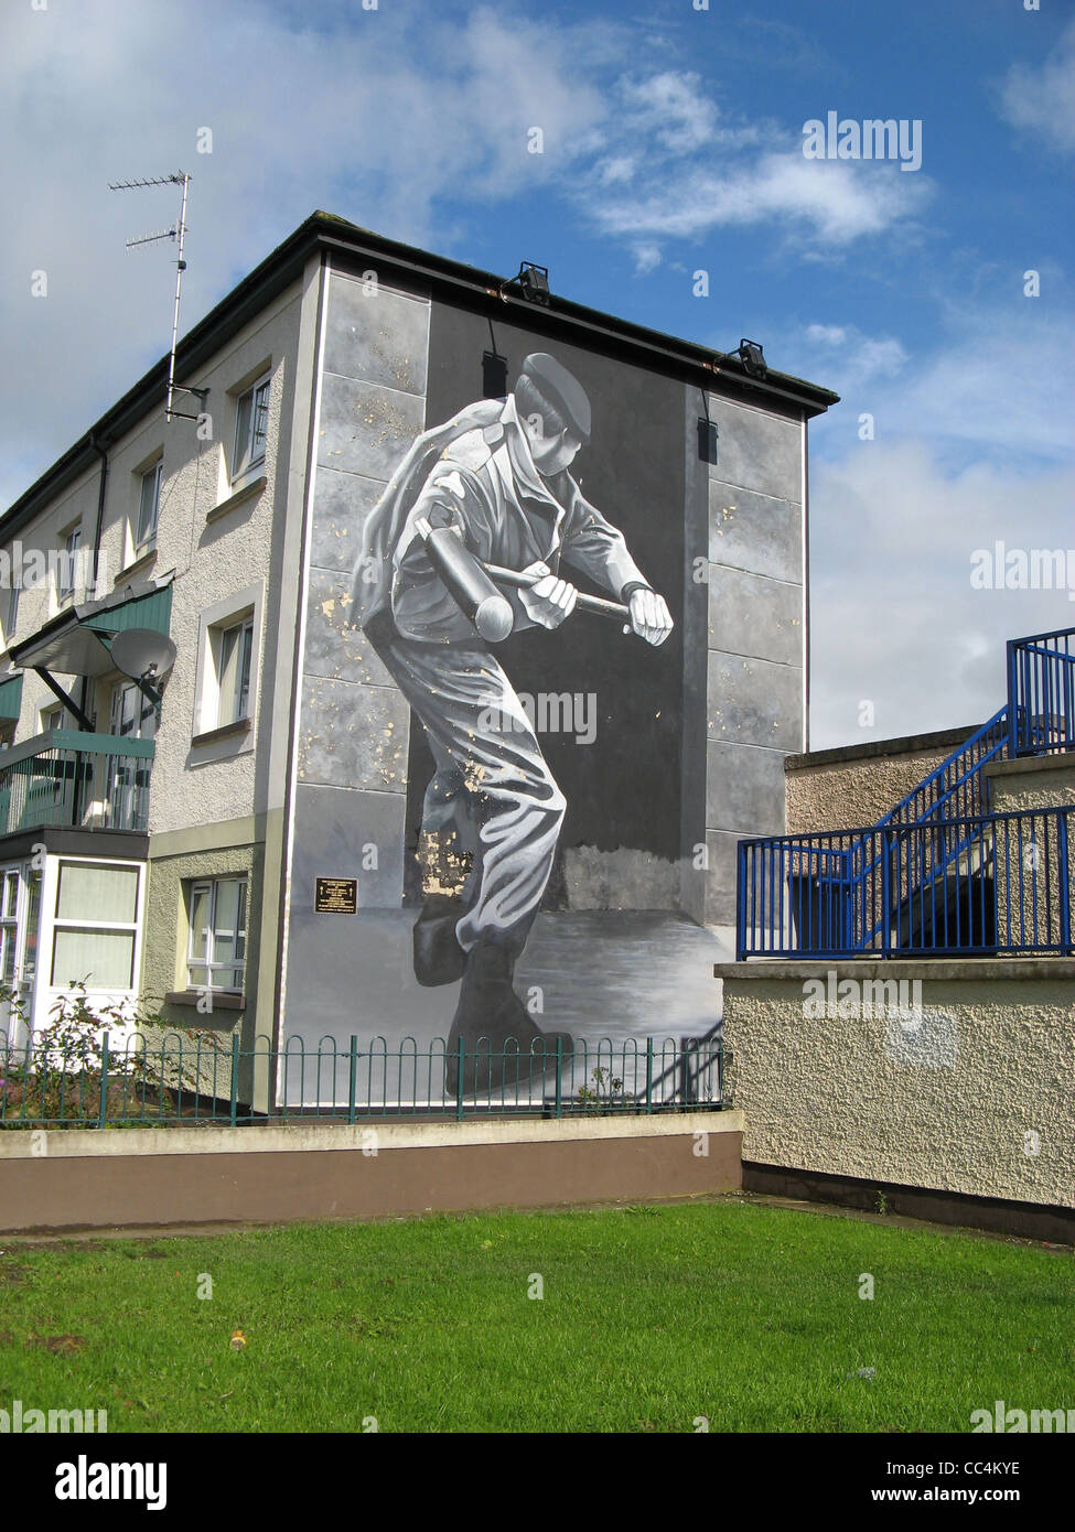
<path fill-rule="evenodd" d="M 968 1431 L 995 1399 L 1075 1406 L 1070 1253 L 738 1200 L 0 1250 L 0 1408 L 110 1431 Z"/>

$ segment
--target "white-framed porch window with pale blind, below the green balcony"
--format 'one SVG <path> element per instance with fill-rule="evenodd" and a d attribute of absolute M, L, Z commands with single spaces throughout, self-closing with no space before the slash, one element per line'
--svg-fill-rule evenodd
<path fill-rule="evenodd" d="M 84 979 L 90 990 L 135 987 L 138 869 L 61 861 L 52 931 L 51 984 Z"/>

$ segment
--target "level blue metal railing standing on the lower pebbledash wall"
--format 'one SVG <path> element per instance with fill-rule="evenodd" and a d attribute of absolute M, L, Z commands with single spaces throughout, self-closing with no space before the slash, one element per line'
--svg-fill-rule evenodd
<path fill-rule="evenodd" d="M 742 958 L 1070 954 L 1075 809 L 739 843 Z"/>

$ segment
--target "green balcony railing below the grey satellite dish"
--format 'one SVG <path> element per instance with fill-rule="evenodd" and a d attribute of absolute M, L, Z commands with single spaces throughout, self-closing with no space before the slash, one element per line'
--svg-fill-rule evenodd
<path fill-rule="evenodd" d="M 0 835 L 144 830 L 153 740 L 49 729 L 0 754 Z"/>

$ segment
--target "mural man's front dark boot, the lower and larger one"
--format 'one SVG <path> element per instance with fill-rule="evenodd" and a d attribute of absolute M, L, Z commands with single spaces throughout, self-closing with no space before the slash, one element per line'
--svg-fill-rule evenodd
<path fill-rule="evenodd" d="M 459 1091 L 459 1045 L 465 1049 L 463 1094 L 500 1091 L 518 1082 L 529 1094 L 531 1080 L 540 1082 L 555 1065 L 557 1042 L 561 1057 L 570 1052 L 569 1033 L 543 1033 L 512 988 L 515 956 L 495 942 L 478 942 L 466 959 L 459 1005 L 448 1034 L 445 1086 Z"/>

